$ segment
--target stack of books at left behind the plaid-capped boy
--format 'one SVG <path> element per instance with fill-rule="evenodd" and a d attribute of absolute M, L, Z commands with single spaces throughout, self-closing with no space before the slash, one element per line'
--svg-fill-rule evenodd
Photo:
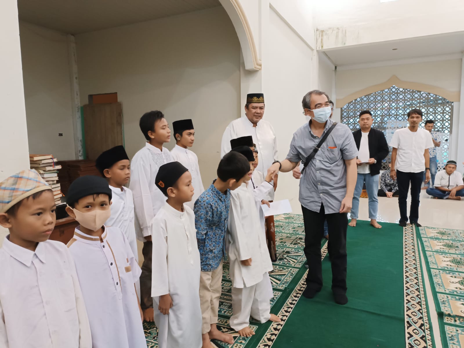
<path fill-rule="evenodd" d="M 31 169 L 35 169 L 37 173 L 52 187 L 55 203 L 61 203 L 61 185 L 58 182 L 58 169 L 61 166 L 57 164 L 57 159 L 53 155 L 29 155 Z"/>

